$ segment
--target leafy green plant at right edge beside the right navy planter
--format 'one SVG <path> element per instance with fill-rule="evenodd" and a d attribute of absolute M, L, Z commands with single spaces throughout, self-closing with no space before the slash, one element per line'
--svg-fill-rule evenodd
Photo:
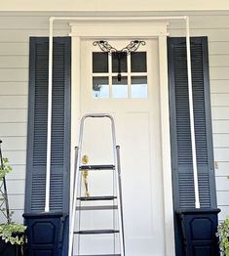
<path fill-rule="evenodd" d="M 216 234 L 219 238 L 219 249 L 223 256 L 229 256 L 229 218 L 218 225 Z"/>

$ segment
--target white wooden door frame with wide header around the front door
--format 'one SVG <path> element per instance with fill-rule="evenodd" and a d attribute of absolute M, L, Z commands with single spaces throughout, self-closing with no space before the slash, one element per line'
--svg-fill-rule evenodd
<path fill-rule="evenodd" d="M 162 142 L 162 171 L 164 187 L 164 219 L 166 256 L 174 256 L 174 225 L 172 206 L 172 164 L 170 107 L 168 90 L 168 58 L 167 58 L 167 21 L 142 21 L 125 18 L 117 20 L 77 21 L 70 23 L 72 37 L 72 89 L 71 89 L 71 177 L 74 163 L 74 147 L 78 145 L 78 125 L 80 120 L 80 83 L 81 83 L 81 42 L 89 38 L 133 38 L 158 39 L 159 46 L 159 81 L 160 81 L 160 115 Z M 73 179 L 71 179 L 72 181 Z M 70 196 L 72 196 L 72 184 Z"/>

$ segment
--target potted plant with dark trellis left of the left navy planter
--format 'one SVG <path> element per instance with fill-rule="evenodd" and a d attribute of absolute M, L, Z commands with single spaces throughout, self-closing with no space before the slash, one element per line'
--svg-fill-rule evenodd
<path fill-rule="evenodd" d="M 1 141 L 0 141 L 1 144 Z M 0 212 L 6 219 L 5 223 L 0 224 L 0 255 L 1 256 L 20 256 L 24 254 L 24 244 L 26 242 L 26 227 L 12 221 L 13 212 L 9 210 L 8 194 L 5 176 L 12 171 L 8 158 L 2 157 L 0 148 Z"/>

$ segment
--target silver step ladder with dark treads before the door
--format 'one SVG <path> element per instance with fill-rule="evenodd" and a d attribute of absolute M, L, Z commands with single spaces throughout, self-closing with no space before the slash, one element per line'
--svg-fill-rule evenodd
<path fill-rule="evenodd" d="M 112 131 L 112 149 L 113 149 L 113 157 L 114 164 L 99 164 L 99 165 L 81 165 L 81 153 L 82 153 L 82 143 L 83 143 L 83 131 L 84 124 L 87 118 L 108 118 L 111 124 Z M 81 174 L 82 171 L 101 171 L 101 170 L 110 170 L 113 173 L 113 177 L 115 178 L 115 187 L 116 194 L 113 195 L 99 195 L 99 196 L 82 196 L 80 194 L 81 191 Z M 98 175 L 98 174 L 97 174 Z M 75 148 L 75 171 L 74 171 L 74 189 L 73 189 L 73 202 L 70 204 L 71 212 L 70 212 L 70 228 L 69 228 L 69 248 L 68 248 L 68 256 L 125 256 L 125 242 L 124 242 L 124 224 L 123 224 L 123 205 L 122 205 L 122 185 L 121 185 L 121 166 L 120 166 L 120 147 L 116 146 L 116 136 L 115 136 L 115 123 L 114 119 L 110 114 L 106 113 L 93 113 L 86 114 L 82 117 L 80 123 L 80 133 L 79 133 L 79 145 Z M 83 201 L 112 201 L 112 205 L 90 205 L 90 206 L 82 206 L 81 202 Z M 117 202 L 117 203 L 114 203 Z M 116 211 L 118 215 L 118 229 L 107 229 L 107 230 L 80 230 L 75 231 L 75 223 L 76 221 L 76 211 L 96 211 L 96 210 L 113 210 Z M 83 214 L 83 213 L 81 213 Z M 114 215 L 113 215 L 114 218 Z M 118 235 L 120 251 L 116 253 L 114 250 L 113 254 L 73 254 L 73 245 L 74 238 L 76 235 L 114 235 L 113 239 L 115 239 L 115 235 Z M 79 237 L 78 237 L 79 238 Z M 80 240 L 80 238 L 79 238 Z"/>

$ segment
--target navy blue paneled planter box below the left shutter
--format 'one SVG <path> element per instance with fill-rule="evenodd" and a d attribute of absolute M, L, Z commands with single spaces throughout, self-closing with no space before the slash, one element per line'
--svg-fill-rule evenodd
<path fill-rule="evenodd" d="M 23 217 L 27 226 L 29 256 L 62 255 L 66 215 L 62 212 L 24 213 Z"/>

